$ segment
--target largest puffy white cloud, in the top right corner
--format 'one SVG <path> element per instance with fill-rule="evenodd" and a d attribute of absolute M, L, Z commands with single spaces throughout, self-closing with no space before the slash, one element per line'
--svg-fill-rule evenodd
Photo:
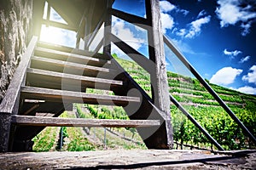
<path fill-rule="evenodd" d="M 220 26 L 225 27 L 229 25 L 236 25 L 238 22 L 242 22 L 241 32 L 242 36 L 246 36 L 249 33 L 249 29 L 252 25 L 250 20 L 256 18 L 256 12 L 253 10 L 253 6 L 250 4 L 241 4 L 243 1 L 238 0 L 218 0 L 218 8 L 215 12 L 220 20 Z M 256 3 L 251 1 L 251 3 Z"/>

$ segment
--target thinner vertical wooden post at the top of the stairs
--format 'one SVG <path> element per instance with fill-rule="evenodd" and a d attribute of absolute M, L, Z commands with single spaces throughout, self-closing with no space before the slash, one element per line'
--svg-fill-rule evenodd
<path fill-rule="evenodd" d="M 110 33 L 112 25 L 112 15 L 110 14 L 110 9 L 112 8 L 112 0 L 107 0 L 106 3 L 107 13 L 104 23 L 103 54 L 111 54 Z"/>

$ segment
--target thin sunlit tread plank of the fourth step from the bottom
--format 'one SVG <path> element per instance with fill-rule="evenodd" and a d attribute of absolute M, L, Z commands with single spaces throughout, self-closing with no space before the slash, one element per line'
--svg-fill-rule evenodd
<path fill-rule="evenodd" d="M 113 69 L 96 67 L 96 66 L 91 66 L 91 65 L 81 65 L 78 63 L 61 61 L 58 59 L 47 59 L 47 58 L 38 57 L 38 56 L 33 56 L 32 60 L 37 60 L 37 61 L 44 62 L 44 63 L 51 64 L 51 65 L 58 65 L 58 66 L 62 66 L 62 67 L 74 68 L 74 69 L 79 69 L 79 70 L 102 71 L 102 72 L 108 72 L 108 73 L 115 72 L 115 70 L 113 70 Z"/>

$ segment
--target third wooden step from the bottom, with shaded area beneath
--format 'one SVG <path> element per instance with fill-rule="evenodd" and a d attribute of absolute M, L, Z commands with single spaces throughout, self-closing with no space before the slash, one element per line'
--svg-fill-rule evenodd
<path fill-rule="evenodd" d="M 56 88 L 61 89 L 62 83 L 65 86 L 81 87 L 81 88 L 97 88 L 110 90 L 111 88 L 122 87 L 121 81 L 108 80 L 97 77 L 84 77 L 79 75 L 44 71 L 39 69 L 28 68 L 26 71 L 26 83 L 30 86 L 41 88 Z M 74 88 L 75 89 L 75 88 Z"/>

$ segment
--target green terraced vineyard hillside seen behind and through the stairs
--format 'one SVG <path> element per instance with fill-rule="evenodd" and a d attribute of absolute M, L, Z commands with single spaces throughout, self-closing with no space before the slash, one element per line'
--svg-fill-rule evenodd
<path fill-rule="evenodd" d="M 119 59 L 131 77 L 151 96 L 149 74 L 135 62 Z M 212 95 L 195 78 L 183 77 L 167 72 L 169 92 L 183 107 L 200 122 L 208 133 L 221 144 L 225 150 L 255 149 L 256 146 L 243 135 L 230 116 L 222 109 Z M 221 99 L 230 106 L 236 116 L 256 136 L 256 97 L 241 94 L 235 90 L 214 84 L 211 87 Z M 111 94 L 110 91 L 87 89 L 87 93 Z M 175 105 L 170 106 L 175 149 L 217 150 L 208 139 L 183 116 Z M 129 119 L 125 111 L 117 106 L 74 105 L 73 112 L 65 111 L 63 117 Z M 46 127 L 33 139 L 33 150 L 106 150 L 106 149 L 146 149 L 136 128 L 103 127 Z M 60 147 L 61 146 L 61 147 Z"/>

